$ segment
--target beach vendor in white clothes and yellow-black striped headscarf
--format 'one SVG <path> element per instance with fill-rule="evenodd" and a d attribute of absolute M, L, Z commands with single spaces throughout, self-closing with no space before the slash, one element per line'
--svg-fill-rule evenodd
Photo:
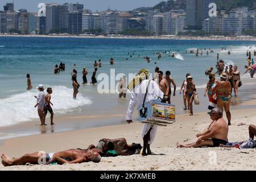
<path fill-rule="evenodd" d="M 147 90 L 146 98 L 144 103 L 154 100 L 158 97 L 163 98 L 163 92 L 159 89 L 158 84 L 155 81 L 148 80 L 150 77 L 150 72 L 147 69 L 141 69 L 139 75 L 134 77 L 129 83 L 127 88 L 132 92 L 131 99 L 126 114 L 127 123 L 133 122 L 131 120 L 131 115 L 135 105 L 142 105 L 144 96 Z M 150 145 L 154 142 L 156 136 L 157 126 L 149 125 L 144 123 L 142 127 L 142 137 L 143 137 L 143 151 L 142 155 L 151 155 Z"/>

